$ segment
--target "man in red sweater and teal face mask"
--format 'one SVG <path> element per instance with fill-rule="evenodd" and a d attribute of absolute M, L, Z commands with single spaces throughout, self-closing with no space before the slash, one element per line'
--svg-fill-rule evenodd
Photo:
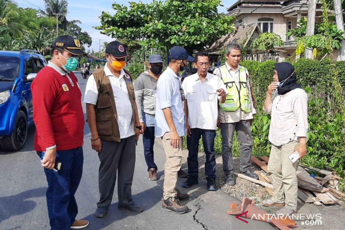
<path fill-rule="evenodd" d="M 81 91 L 73 74 L 79 55 L 80 42 L 71 36 L 58 37 L 51 46 L 51 61 L 31 84 L 33 120 L 36 125 L 34 149 L 46 173 L 47 206 L 51 230 L 80 229 L 86 220 L 76 220 L 77 202 L 74 197 L 83 168 L 84 114 Z M 54 171 L 56 161 L 61 162 Z"/>

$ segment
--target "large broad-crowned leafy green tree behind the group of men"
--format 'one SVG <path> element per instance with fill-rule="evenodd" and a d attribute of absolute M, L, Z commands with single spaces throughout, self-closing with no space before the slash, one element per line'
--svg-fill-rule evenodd
<path fill-rule="evenodd" d="M 233 18 L 218 13 L 221 0 L 153 0 L 149 4 L 114 3 L 116 14 L 102 12 L 101 33 L 147 48 L 184 46 L 189 53 L 202 50 L 222 35 L 233 31 Z M 130 46 L 129 46 L 130 47 Z"/>

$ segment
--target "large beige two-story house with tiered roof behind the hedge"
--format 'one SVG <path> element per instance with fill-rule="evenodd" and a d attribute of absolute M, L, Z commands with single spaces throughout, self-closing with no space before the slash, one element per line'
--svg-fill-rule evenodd
<path fill-rule="evenodd" d="M 334 14 L 334 11 L 329 10 L 329 14 Z M 285 58 L 292 57 L 296 49 L 294 38 L 287 36 L 286 33 L 293 28 L 296 28 L 297 21 L 302 17 L 308 15 L 308 0 L 239 0 L 232 6 L 227 8 L 227 16 L 235 17 L 234 23 L 237 31 L 245 29 L 246 25 L 256 25 L 258 32 L 270 32 L 278 34 L 284 41 L 283 47 L 276 47 L 278 61 L 283 61 Z M 321 3 L 316 6 L 316 21 L 321 21 L 322 9 Z M 256 33 L 253 33 L 256 34 Z M 250 43 L 252 38 L 246 38 L 247 43 Z M 229 43 L 232 40 L 228 40 Z M 217 43 L 217 42 L 215 42 Z M 223 42 L 223 44 L 225 44 Z M 213 51 L 216 47 L 213 44 Z M 223 46 L 224 47 L 224 46 Z M 260 52 L 253 52 L 258 54 Z M 335 53 L 335 56 L 336 53 Z M 252 55 L 250 59 L 259 60 L 258 55 Z M 336 58 L 335 58 L 336 59 Z M 277 59 L 276 59 L 277 60 Z"/>

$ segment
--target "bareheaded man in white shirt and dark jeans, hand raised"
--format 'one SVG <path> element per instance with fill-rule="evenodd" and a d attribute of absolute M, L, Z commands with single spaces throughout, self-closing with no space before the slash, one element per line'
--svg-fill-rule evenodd
<path fill-rule="evenodd" d="M 214 140 L 217 129 L 218 100 L 224 103 L 228 91 L 219 77 L 207 72 L 210 66 L 207 52 L 198 52 L 194 62 L 198 72 L 186 77 L 182 83 L 186 97 L 185 114 L 188 136 L 188 179 L 182 186 L 189 188 L 198 183 L 199 140 L 203 137 L 207 188 L 210 191 L 216 191 Z"/>

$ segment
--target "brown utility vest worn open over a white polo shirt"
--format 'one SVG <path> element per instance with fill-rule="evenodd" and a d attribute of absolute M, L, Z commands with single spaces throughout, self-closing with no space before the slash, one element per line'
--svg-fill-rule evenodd
<path fill-rule="evenodd" d="M 125 70 L 127 76 L 124 76 L 126 81 L 129 100 L 133 109 L 133 130 L 136 131 L 136 112 L 135 96 L 132 77 L 130 73 Z M 114 94 L 111 88 L 109 77 L 106 76 L 104 68 L 93 72 L 97 89 L 98 99 L 96 104 L 96 125 L 99 138 L 102 141 L 120 141 L 119 124 L 117 121 L 117 111 L 115 106 Z"/>

